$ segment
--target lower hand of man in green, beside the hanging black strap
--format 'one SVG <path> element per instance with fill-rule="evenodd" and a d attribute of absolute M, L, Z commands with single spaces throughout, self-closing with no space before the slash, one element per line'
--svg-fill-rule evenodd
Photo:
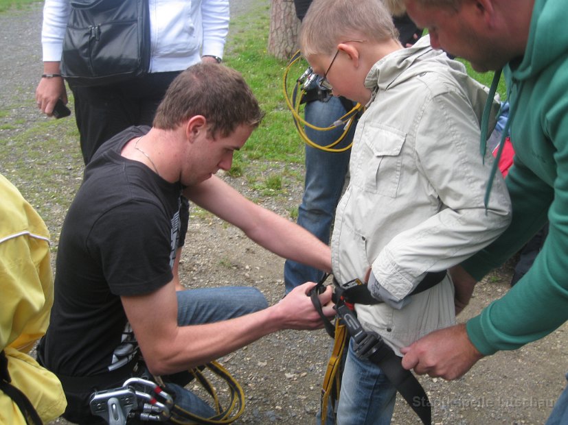
<path fill-rule="evenodd" d="M 469 340 L 464 324 L 435 330 L 400 352 L 405 369 L 447 380 L 461 378 L 483 357 Z"/>

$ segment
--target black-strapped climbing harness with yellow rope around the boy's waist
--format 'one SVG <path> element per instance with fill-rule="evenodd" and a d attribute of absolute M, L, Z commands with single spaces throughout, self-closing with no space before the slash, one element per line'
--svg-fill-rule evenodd
<path fill-rule="evenodd" d="M 332 324 L 323 315 L 321 303 L 317 297 L 325 289 L 323 284 L 328 276 L 328 274 L 324 275 L 310 293 L 310 298 L 323 319 L 326 332 L 334 339 L 332 354 L 328 361 L 321 389 L 321 424 L 326 423 L 328 406 L 330 404 L 332 411 L 337 413 L 337 402 L 339 401 L 341 391 L 341 368 L 343 366 L 344 350 L 349 339 L 353 338 L 356 356 L 378 365 L 391 384 L 394 385 L 400 395 L 420 417 L 422 423 L 431 425 L 431 404 L 422 385 L 409 370 L 402 367 L 402 359 L 383 341 L 383 338 L 376 332 L 363 329 L 359 319 L 357 319 L 354 304 L 370 305 L 378 304 L 380 301 L 373 298 L 369 289 L 367 289 L 367 285 L 363 284 L 359 279 L 351 280 L 343 285 L 339 285 L 337 280 L 333 279 L 335 291 L 332 300 L 335 303 L 334 308 L 337 311 L 337 317 L 335 323 Z M 445 270 L 428 273 L 410 295 L 426 291 L 442 282 L 445 276 Z"/>

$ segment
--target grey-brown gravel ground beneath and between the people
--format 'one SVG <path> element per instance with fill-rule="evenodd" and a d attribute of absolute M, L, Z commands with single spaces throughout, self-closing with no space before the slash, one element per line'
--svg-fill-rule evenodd
<path fill-rule="evenodd" d="M 231 1 L 231 13 L 240 16 L 261 1 L 267 0 Z M 80 182 L 82 165 L 73 121 L 53 125 L 53 120 L 43 117 L 34 104 L 34 90 L 42 71 L 40 33 L 40 3 L 0 14 L 0 158 L 8 158 L 0 163 L 0 172 L 26 197 L 34 199 L 56 245 L 60 223 Z M 25 132 L 38 123 L 45 131 L 30 134 L 29 147 L 21 154 L 14 139 L 25 134 L 27 140 Z M 58 147 L 64 139 L 71 141 Z M 46 147 L 46 141 L 53 145 Z M 63 159 L 47 163 L 34 157 L 37 151 L 47 148 L 67 151 L 58 157 Z M 275 171 L 283 166 L 271 165 Z M 34 181 L 36 167 L 52 167 L 53 183 L 46 186 L 45 182 L 42 185 Z M 258 197 L 245 178 L 227 181 L 282 215 L 297 206 L 302 194 L 302 185 L 297 183 L 286 188 L 284 197 Z M 251 243 L 239 230 L 197 212 L 192 216 L 188 240 L 181 264 L 186 287 L 250 284 L 259 287 L 270 302 L 282 296 L 283 260 Z M 510 269 L 505 267 L 479 284 L 460 320 L 477 314 L 507 291 L 509 280 Z M 543 424 L 566 384 L 567 331 L 565 325 L 521 350 L 484 359 L 464 378 L 452 383 L 421 378 L 434 404 L 433 423 Z M 247 396 L 247 410 L 238 423 L 313 424 L 329 342 L 323 330 L 278 332 L 222 359 Z M 393 423 L 419 422 L 399 400 Z"/>

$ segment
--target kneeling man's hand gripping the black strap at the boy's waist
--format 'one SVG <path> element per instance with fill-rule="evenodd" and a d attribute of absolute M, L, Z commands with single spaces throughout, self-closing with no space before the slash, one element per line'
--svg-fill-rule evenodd
<path fill-rule="evenodd" d="M 284 329 L 320 329 L 323 328 L 323 319 L 314 308 L 308 293 L 315 287 L 314 282 L 306 282 L 295 287 L 286 297 L 282 298 L 274 308 L 282 315 Z M 331 301 L 333 292 L 332 285 L 326 287 L 326 291 L 318 295 L 321 302 L 323 315 L 331 319 L 335 315 L 334 304 Z"/>

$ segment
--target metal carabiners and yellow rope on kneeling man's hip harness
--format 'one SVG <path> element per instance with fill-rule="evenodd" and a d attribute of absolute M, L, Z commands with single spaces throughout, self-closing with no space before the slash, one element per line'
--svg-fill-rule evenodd
<path fill-rule="evenodd" d="M 203 374 L 209 369 L 229 387 L 229 404 L 223 409 L 212 383 Z M 216 361 L 189 371 L 214 400 L 216 414 L 201 417 L 186 411 L 165 391 L 161 378 L 157 382 L 143 378 L 128 378 L 122 387 L 96 391 L 91 395 L 91 413 L 102 417 L 109 425 L 124 425 L 129 418 L 151 422 L 172 422 L 174 424 L 231 424 L 245 411 L 245 393 L 240 384 Z"/>

